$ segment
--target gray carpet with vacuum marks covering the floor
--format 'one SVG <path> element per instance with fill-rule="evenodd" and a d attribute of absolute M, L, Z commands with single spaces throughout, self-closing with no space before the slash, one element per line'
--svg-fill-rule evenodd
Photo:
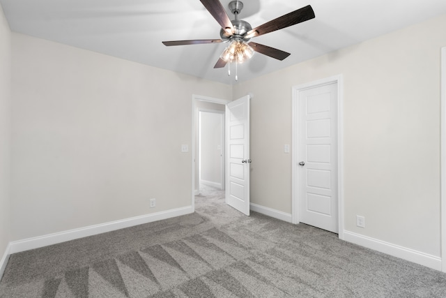
<path fill-rule="evenodd" d="M 10 256 L 0 297 L 446 297 L 446 274 L 224 204 Z"/>

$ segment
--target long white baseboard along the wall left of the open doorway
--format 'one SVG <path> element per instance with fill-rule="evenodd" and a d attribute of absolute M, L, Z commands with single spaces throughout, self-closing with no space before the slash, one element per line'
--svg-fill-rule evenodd
<path fill-rule="evenodd" d="M 141 225 L 144 223 L 151 223 L 153 221 L 160 221 L 162 219 L 172 218 L 176 216 L 182 216 L 185 214 L 193 213 L 192 206 L 187 206 L 178 209 L 171 209 L 167 211 L 161 211 L 153 214 L 146 214 L 143 216 L 136 216 L 132 218 L 126 218 L 121 221 L 112 221 L 109 223 L 101 223 L 99 225 L 91 225 L 85 228 L 79 228 L 74 230 L 68 230 L 64 232 L 57 232 L 54 234 L 47 234 L 40 237 L 33 237 L 29 239 L 23 239 L 19 241 L 10 242 L 9 253 L 20 253 L 21 251 L 29 251 L 30 249 L 40 248 L 52 244 L 58 244 L 65 241 L 79 239 L 83 237 L 93 236 L 95 234 L 101 234 L 105 232 L 111 232 L 123 228 L 129 228 L 134 225 Z"/>

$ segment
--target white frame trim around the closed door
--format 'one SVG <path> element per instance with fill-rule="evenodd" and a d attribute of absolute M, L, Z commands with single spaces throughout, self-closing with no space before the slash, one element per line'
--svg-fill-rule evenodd
<path fill-rule="evenodd" d="M 334 75 L 333 77 L 327 77 L 325 79 L 316 80 L 313 82 L 308 82 L 305 84 L 299 84 L 292 87 L 293 98 L 292 98 L 292 149 L 293 154 L 291 156 L 291 217 L 292 223 L 300 223 L 299 218 L 299 198 L 298 198 L 298 184 L 299 174 L 297 170 L 298 165 L 298 149 L 299 149 L 299 95 L 300 91 L 305 89 L 320 87 L 326 84 L 337 84 L 337 186 L 338 186 L 338 230 L 339 239 L 344 239 L 344 163 L 343 163 L 343 144 L 344 137 L 342 132 L 344 131 L 342 127 L 343 115 L 342 115 L 342 102 L 343 102 L 343 91 L 342 91 L 342 75 Z"/>

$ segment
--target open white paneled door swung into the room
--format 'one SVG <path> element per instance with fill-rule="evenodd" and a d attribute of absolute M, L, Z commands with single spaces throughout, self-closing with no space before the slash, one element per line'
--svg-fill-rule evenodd
<path fill-rule="evenodd" d="M 249 216 L 249 96 L 226 105 L 226 203 Z"/>

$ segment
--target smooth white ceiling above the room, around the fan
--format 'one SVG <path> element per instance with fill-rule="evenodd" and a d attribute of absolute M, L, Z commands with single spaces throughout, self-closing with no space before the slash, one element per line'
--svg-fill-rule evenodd
<path fill-rule="evenodd" d="M 227 8 L 229 1 L 221 2 Z M 174 47 L 161 43 L 220 38 L 220 25 L 199 0 L 0 3 L 12 31 L 225 84 L 235 82 L 227 67 L 213 68 L 226 43 Z M 254 28 L 308 4 L 315 19 L 252 39 L 291 56 L 278 61 L 256 53 L 239 65 L 239 82 L 446 13 L 445 0 L 245 0 L 240 19 Z"/>

